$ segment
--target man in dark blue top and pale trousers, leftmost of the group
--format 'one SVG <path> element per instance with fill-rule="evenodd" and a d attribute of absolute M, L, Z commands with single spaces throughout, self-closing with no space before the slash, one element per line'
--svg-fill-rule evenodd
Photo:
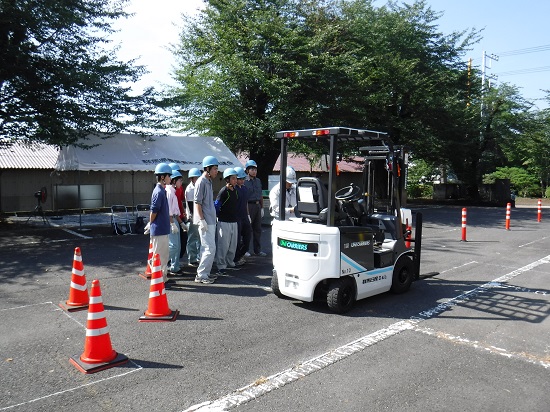
<path fill-rule="evenodd" d="M 157 184 L 151 194 L 151 211 L 149 212 L 150 235 L 153 256 L 158 253 L 164 283 L 168 281 L 168 235 L 170 234 L 170 214 L 166 185 L 170 184 L 172 169 L 166 163 L 159 163 L 155 167 Z M 153 262 L 149 265 L 153 267 Z"/>

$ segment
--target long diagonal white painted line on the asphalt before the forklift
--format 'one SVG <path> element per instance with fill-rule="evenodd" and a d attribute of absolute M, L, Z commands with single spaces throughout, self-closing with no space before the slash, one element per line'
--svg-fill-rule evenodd
<path fill-rule="evenodd" d="M 470 262 L 471 263 L 471 262 Z M 221 398 L 218 398 L 214 401 L 206 401 L 197 405 L 193 405 L 190 408 L 187 408 L 184 412 L 221 412 L 226 411 L 230 408 L 242 405 L 246 402 L 249 402 L 253 399 L 257 399 L 259 396 L 262 396 L 268 392 L 271 392 L 275 389 L 281 388 L 291 382 L 294 382 L 304 376 L 310 375 L 311 373 L 324 369 L 333 363 L 347 358 L 348 356 L 353 355 L 354 353 L 360 352 L 365 348 L 375 345 L 376 343 L 382 342 L 392 336 L 395 336 L 405 330 L 418 330 L 422 333 L 428 331 L 428 329 L 421 329 L 418 327 L 418 324 L 428 320 L 440 313 L 448 310 L 452 306 L 455 306 L 458 303 L 464 302 L 466 300 L 472 299 L 479 295 L 481 292 L 486 291 L 490 288 L 501 287 L 502 282 L 506 282 L 514 277 L 528 272 L 531 269 L 536 268 L 537 266 L 550 263 L 550 255 L 539 259 L 533 263 L 530 263 L 526 266 L 523 266 L 519 269 L 516 269 L 506 275 L 503 275 L 491 282 L 487 282 L 471 291 L 465 292 L 461 295 L 458 295 L 452 299 L 449 299 L 447 302 L 441 303 L 434 308 L 420 312 L 417 316 L 413 316 L 408 320 L 402 320 L 396 323 L 391 324 L 387 328 L 380 329 L 374 333 L 363 336 L 362 338 L 357 339 L 351 343 L 340 346 L 333 351 L 326 352 L 320 356 L 317 356 L 311 360 L 308 360 L 304 363 L 301 363 L 297 366 L 294 366 L 290 369 L 287 369 L 283 372 L 276 373 L 267 378 L 261 377 L 256 382 L 253 382 L 247 386 L 244 386 L 240 389 L 235 390 L 234 392 L 225 395 Z M 448 335 L 448 338 L 451 339 L 451 335 Z M 474 343 L 472 343 L 473 345 Z M 486 348 L 483 348 L 486 349 Z M 494 351 L 501 350 L 494 348 Z M 505 355 L 505 352 L 501 353 Z M 506 356 L 506 355 L 505 355 Z M 511 356 L 508 354 L 508 356 Z M 522 359 L 525 359 L 523 357 Z M 548 367 L 548 362 L 536 362 L 543 367 Z"/>

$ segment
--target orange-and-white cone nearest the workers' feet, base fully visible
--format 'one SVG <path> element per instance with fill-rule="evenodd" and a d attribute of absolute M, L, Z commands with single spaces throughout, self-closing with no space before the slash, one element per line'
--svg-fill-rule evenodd
<path fill-rule="evenodd" d="M 139 318 L 140 322 L 172 322 L 178 316 L 178 310 L 171 310 L 168 307 L 168 298 L 164 289 L 160 256 L 155 253 L 153 258 L 153 275 L 151 276 L 151 287 L 149 289 L 149 306 Z"/>

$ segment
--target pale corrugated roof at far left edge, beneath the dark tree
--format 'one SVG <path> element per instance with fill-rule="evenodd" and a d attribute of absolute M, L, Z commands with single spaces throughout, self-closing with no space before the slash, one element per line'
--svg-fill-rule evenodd
<path fill-rule="evenodd" d="M 58 154 L 56 146 L 0 139 L 0 169 L 55 169 Z"/>

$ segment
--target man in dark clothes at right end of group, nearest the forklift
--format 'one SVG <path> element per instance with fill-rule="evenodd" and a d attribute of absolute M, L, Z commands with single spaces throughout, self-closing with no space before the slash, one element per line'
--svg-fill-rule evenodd
<path fill-rule="evenodd" d="M 248 212 L 252 225 L 252 244 L 254 255 L 267 256 L 262 252 L 262 217 L 264 217 L 264 198 L 262 194 L 262 182 L 256 177 L 258 165 L 254 160 L 248 160 L 245 164 L 245 171 L 248 177 L 244 184 L 248 190 Z"/>

